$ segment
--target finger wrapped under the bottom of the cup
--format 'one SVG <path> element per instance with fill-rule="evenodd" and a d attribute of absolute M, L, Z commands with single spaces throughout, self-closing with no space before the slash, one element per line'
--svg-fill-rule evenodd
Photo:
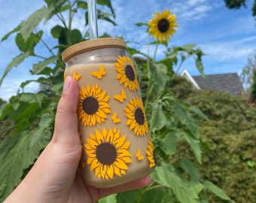
<path fill-rule="evenodd" d="M 101 189 L 99 189 L 99 198 L 103 198 L 103 197 L 111 195 L 111 194 L 125 192 L 125 191 L 132 190 L 132 189 L 139 189 L 139 188 L 147 186 L 150 182 L 151 182 L 151 177 L 148 175 L 148 176 L 143 177 L 142 179 L 133 181 L 131 183 L 126 183 L 121 186 L 113 186 L 110 188 L 101 188 Z"/>

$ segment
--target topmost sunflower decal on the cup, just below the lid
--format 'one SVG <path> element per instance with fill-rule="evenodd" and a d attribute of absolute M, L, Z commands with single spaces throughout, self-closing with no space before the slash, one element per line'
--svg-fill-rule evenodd
<path fill-rule="evenodd" d="M 136 91 L 139 89 L 139 82 L 136 75 L 136 70 L 133 65 L 133 61 L 127 56 L 119 56 L 117 62 L 114 63 L 117 70 L 117 79 L 120 80 L 120 84 L 124 83 L 124 86 Z"/>

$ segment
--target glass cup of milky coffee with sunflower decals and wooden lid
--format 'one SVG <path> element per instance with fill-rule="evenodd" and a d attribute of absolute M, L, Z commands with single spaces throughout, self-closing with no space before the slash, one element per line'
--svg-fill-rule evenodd
<path fill-rule="evenodd" d="M 78 81 L 81 172 L 86 183 L 117 186 L 149 174 L 154 152 L 139 82 L 118 38 L 84 41 L 62 53 L 64 79 Z"/>

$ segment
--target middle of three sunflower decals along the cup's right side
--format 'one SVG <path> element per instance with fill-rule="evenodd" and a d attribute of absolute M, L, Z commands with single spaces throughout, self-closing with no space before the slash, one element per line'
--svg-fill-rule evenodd
<path fill-rule="evenodd" d="M 142 99 L 133 98 L 124 109 L 127 122 L 126 125 L 130 126 L 130 130 L 138 136 L 144 136 L 148 133 L 148 122 L 145 116 L 145 110 L 142 104 Z"/>

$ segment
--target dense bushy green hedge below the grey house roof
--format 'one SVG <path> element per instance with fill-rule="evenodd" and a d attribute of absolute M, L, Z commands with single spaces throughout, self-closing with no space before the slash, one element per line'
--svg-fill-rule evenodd
<path fill-rule="evenodd" d="M 177 79 L 181 80 L 181 79 Z M 184 81 L 183 81 L 184 82 Z M 172 89 L 175 89 L 173 87 Z M 179 89 L 179 88 L 178 88 Z M 255 135 L 256 109 L 242 96 L 224 92 L 193 90 L 181 97 L 197 106 L 209 120 L 197 117 L 202 141 L 202 165 L 196 163 L 201 179 L 220 186 L 236 202 L 254 202 L 255 186 Z M 181 141 L 173 164 L 181 157 L 194 160 L 187 144 Z M 184 170 L 184 167 L 181 171 Z M 209 185 L 206 186 L 209 189 Z M 211 190 L 215 193 L 214 190 Z M 218 190 L 218 189 L 217 189 Z M 208 193 L 211 202 L 226 202 Z M 219 194 L 221 195 L 221 193 Z M 222 199 L 225 199 L 223 194 Z"/>

